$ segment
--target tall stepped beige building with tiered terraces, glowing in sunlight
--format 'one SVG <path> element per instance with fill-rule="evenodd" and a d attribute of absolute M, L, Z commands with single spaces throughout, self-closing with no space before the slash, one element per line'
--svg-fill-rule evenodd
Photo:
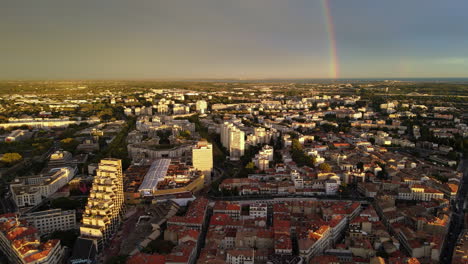
<path fill-rule="evenodd" d="M 103 159 L 94 177 L 93 188 L 88 198 L 81 237 L 95 239 L 102 250 L 112 237 L 124 215 L 122 161 Z"/>

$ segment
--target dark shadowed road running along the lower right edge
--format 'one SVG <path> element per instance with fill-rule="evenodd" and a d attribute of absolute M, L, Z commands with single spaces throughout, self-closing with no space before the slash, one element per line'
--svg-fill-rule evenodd
<path fill-rule="evenodd" d="M 463 177 L 459 185 L 460 187 L 457 193 L 457 198 L 453 203 L 453 213 L 450 220 L 449 229 L 445 237 L 445 243 L 442 248 L 442 253 L 440 254 L 440 263 L 449 264 L 452 262 L 453 250 L 457 243 L 457 238 L 460 235 L 463 228 L 463 208 L 465 203 L 465 197 L 468 194 L 468 159 L 462 160 L 458 169 L 460 172 L 463 173 Z"/>

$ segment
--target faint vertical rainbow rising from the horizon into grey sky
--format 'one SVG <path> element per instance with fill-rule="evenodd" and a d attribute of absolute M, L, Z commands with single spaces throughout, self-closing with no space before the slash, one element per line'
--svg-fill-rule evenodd
<path fill-rule="evenodd" d="M 338 64 L 338 55 L 336 49 L 336 38 L 335 38 L 335 25 L 333 24 L 333 17 L 330 12 L 330 0 L 321 0 L 323 13 L 325 16 L 325 25 L 328 35 L 329 42 L 329 52 L 330 52 L 330 63 L 329 63 L 329 77 L 332 79 L 337 79 L 339 76 L 339 64 Z"/>

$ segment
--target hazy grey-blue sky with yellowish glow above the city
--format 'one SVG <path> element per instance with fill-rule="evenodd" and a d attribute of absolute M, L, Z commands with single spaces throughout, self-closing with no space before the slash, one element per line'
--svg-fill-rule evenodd
<path fill-rule="evenodd" d="M 468 77 L 466 0 L 1 2 L 4 80 Z"/>

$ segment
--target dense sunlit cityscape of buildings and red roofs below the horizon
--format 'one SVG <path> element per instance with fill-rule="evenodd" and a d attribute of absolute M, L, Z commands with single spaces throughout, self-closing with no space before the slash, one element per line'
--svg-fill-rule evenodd
<path fill-rule="evenodd" d="M 0 263 L 467 263 L 468 85 L 3 81 Z"/>

